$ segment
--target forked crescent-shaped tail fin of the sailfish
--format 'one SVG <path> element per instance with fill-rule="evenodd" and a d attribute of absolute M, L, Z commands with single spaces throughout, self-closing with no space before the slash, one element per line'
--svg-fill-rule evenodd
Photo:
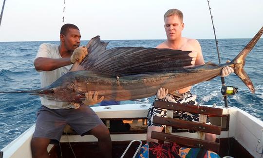
<path fill-rule="evenodd" d="M 234 73 L 244 82 L 244 84 L 249 88 L 249 90 L 252 93 L 255 93 L 255 88 L 244 71 L 244 65 L 245 65 L 245 58 L 250 53 L 250 51 L 253 49 L 255 44 L 260 39 L 261 35 L 263 34 L 263 27 L 259 30 L 259 32 L 254 36 L 252 40 L 250 40 L 247 45 L 244 47 L 244 49 L 237 55 L 235 59 L 231 61 L 231 63 L 234 63 Z"/>

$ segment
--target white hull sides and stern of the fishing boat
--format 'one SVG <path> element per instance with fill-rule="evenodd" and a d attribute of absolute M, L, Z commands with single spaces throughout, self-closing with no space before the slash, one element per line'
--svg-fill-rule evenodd
<path fill-rule="evenodd" d="M 129 104 L 129 105 L 113 105 L 93 107 L 96 114 L 101 119 L 117 119 L 117 118 L 146 118 L 150 104 Z M 236 107 L 222 107 L 223 115 L 230 115 L 229 131 L 222 131 L 220 138 L 234 137 L 252 156 L 261 158 L 263 152 L 263 121 L 257 119 L 243 110 Z M 33 136 L 35 125 L 25 131 L 22 135 L 4 147 L 3 158 L 31 158 L 30 140 Z M 176 135 L 191 135 L 196 137 L 196 134 L 176 133 Z M 124 140 L 146 140 L 146 134 L 114 134 L 111 135 L 113 141 Z M 262 140 L 262 141 L 260 141 Z M 83 142 L 97 141 L 92 135 L 64 135 L 60 142 Z M 49 145 L 49 150 L 53 145 Z"/>

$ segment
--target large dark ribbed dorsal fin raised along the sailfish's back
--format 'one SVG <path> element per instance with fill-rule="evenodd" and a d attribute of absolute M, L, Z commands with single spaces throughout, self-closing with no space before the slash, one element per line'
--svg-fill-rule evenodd
<path fill-rule="evenodd" d="M 149 72 L 182 70 L 191 65 L 191 51 L 157 49 L 144 47 L 114 47 L 106 50 L 108 43 L 94 37 L 87 44 L 88 55 L 80 63 L 74 64 L 71 71 L 90 70 L 125 76 Z"/>

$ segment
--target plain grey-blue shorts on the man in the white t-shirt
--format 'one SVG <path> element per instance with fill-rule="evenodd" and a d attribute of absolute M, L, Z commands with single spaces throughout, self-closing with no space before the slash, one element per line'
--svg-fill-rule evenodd
<path fill-rule="evenodd" d="M 66 124 L 83 136 L 102 123 L 92 108 L 86 105 L 81 105 L 78 109 L 49 109 L 42 105 L 37 114 L 33 138 L 59 141 Z"/>

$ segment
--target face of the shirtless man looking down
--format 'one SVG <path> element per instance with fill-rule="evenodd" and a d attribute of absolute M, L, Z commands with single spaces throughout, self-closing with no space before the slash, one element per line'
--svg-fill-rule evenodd
<path fill-rule="evenodd" d="M 165 18 L 165 32 L 168 40 L 176 40 L 181 37 L 184 23 L 177 15 Z"/>

